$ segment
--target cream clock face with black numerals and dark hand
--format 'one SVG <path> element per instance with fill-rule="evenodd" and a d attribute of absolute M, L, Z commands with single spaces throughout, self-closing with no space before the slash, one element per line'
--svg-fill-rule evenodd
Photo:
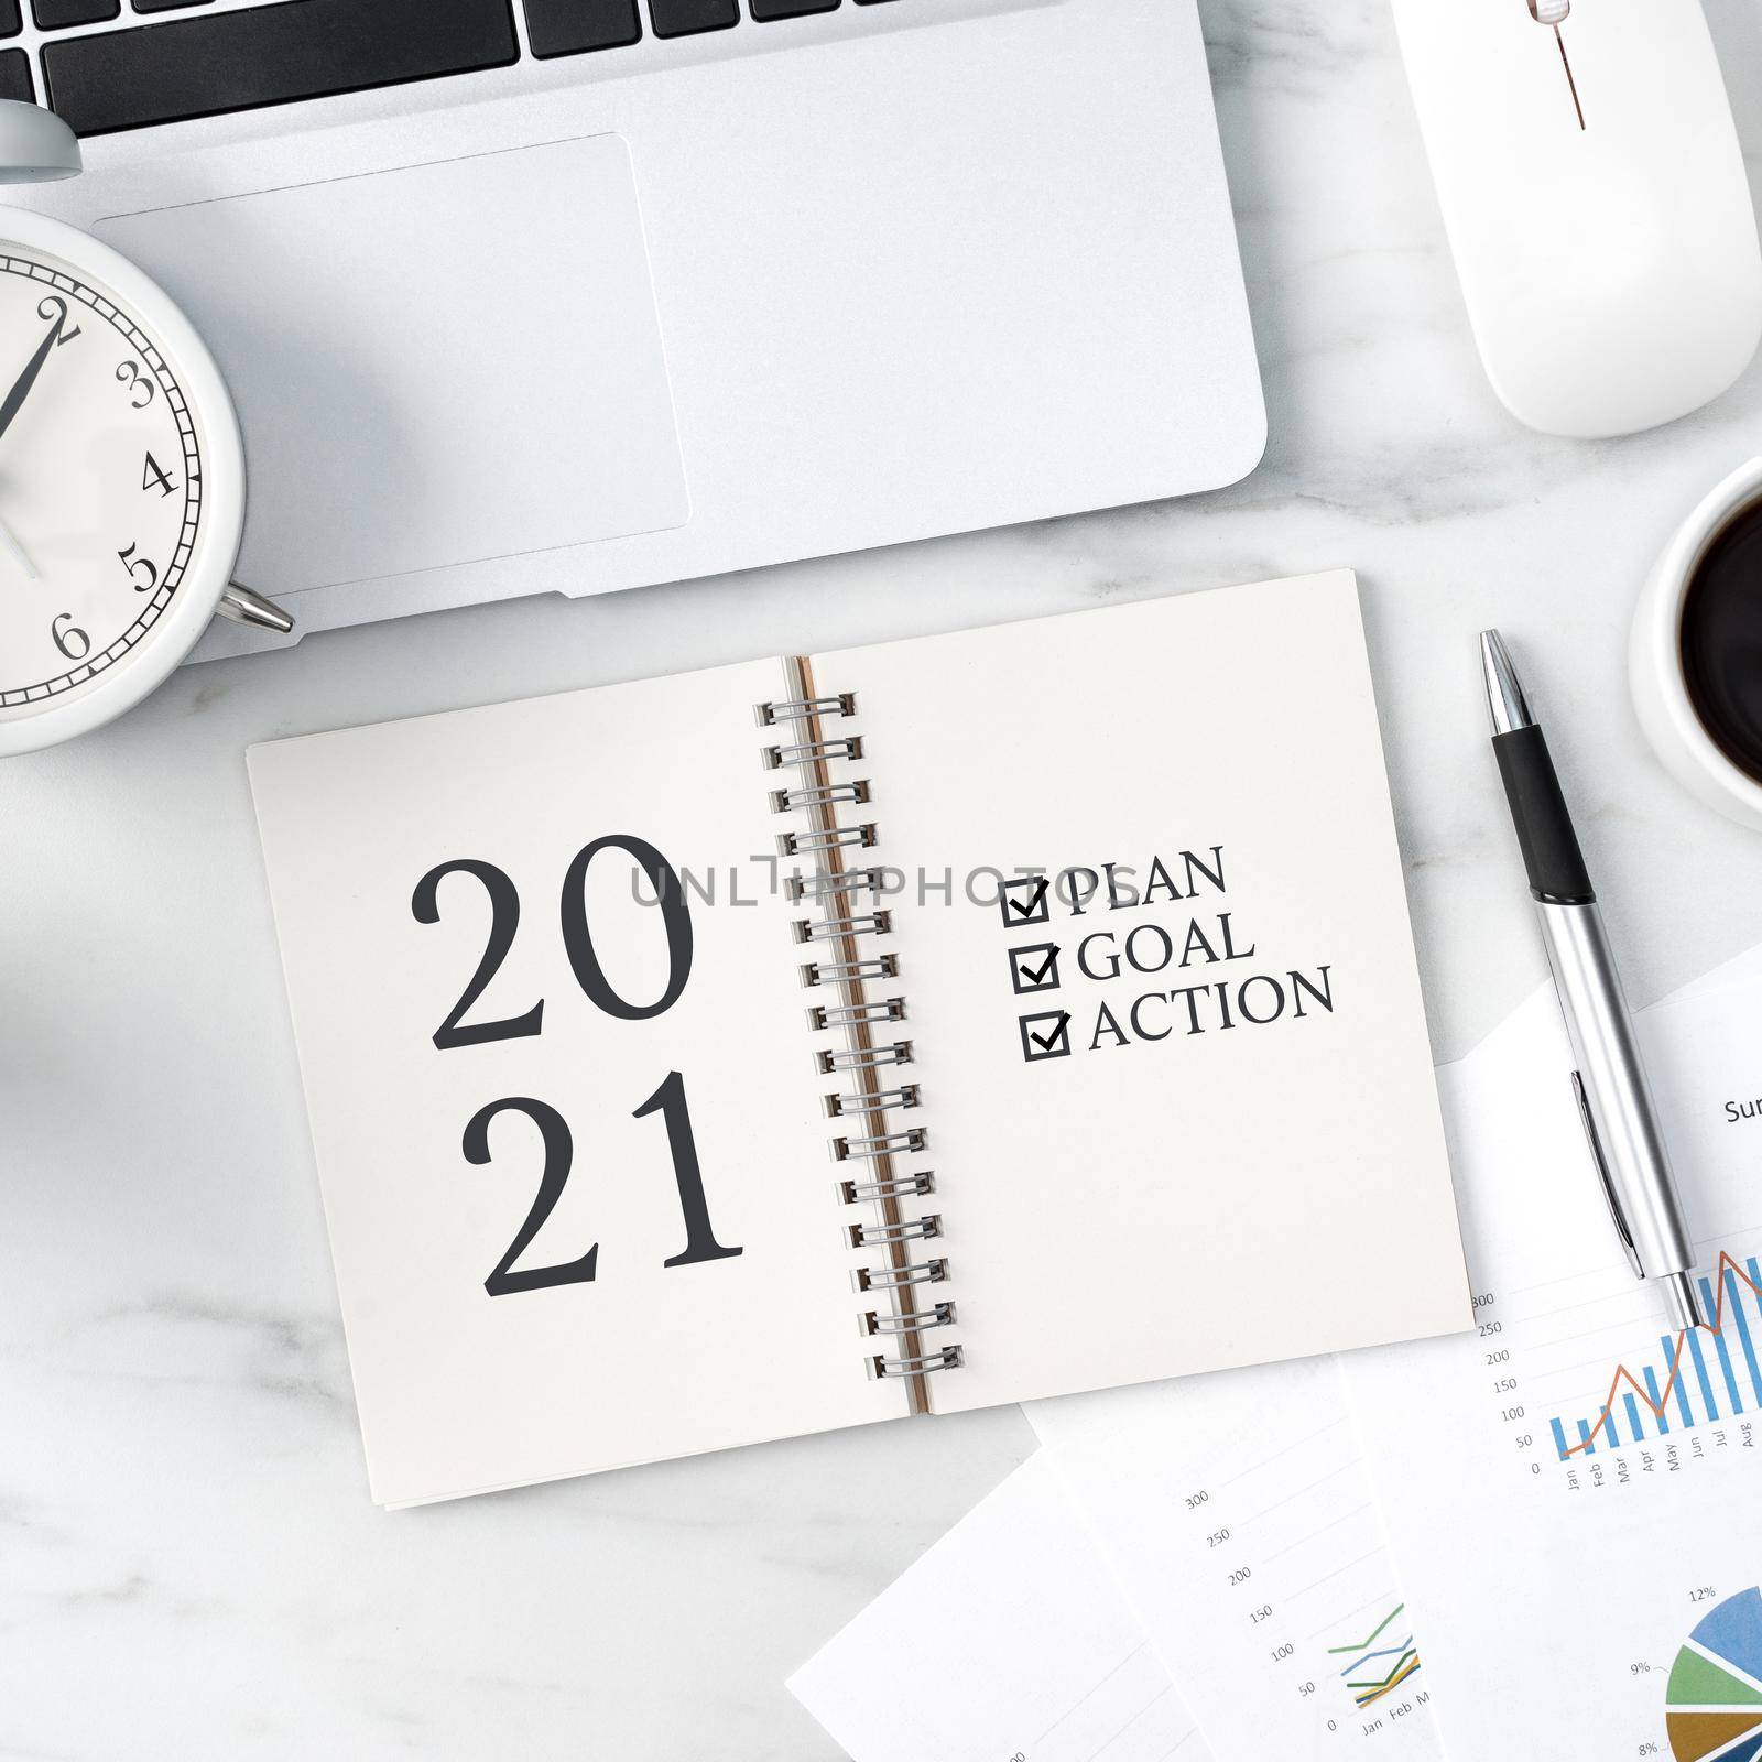
<path fill-rule="evenodd" d="M 104 689 L 203 536 L 203 423 L 148 322 L 0 240 L 0 721 Z"/>

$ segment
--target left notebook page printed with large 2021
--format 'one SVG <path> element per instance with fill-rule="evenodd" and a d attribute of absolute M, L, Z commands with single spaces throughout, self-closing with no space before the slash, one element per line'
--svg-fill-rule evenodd
<path fill-rule="evenodd" d="M 800 955 L 754 863 L 777 684 L 250 752 L 382 1503 L 904 1411 L 863 1374 Z"/>

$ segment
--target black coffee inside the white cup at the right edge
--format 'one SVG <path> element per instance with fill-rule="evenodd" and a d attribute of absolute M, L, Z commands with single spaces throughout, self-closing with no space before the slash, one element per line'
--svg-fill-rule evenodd
<path fill-rule="evenodd" d="M 1707 546 L 1683 597 L 1683 678 L 1700 726 L 1762 782 L 1762 502 Z"/>

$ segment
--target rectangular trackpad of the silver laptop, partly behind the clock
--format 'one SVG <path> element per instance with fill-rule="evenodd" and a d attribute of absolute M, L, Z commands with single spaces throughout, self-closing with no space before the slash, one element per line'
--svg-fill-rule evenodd
<path fill-rule="evenodd" d="M 594 136 L 123 215 L 250 467 L 240 578 L 403 574 L 691 516 L 629 148 Z"/>

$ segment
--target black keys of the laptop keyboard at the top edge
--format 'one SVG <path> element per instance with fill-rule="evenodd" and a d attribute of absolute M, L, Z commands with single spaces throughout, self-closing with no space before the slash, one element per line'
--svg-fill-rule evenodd
<path fill-rule="evenodd" d="M 0 97 L 113 134 L 846 4 L 900 0 L 0 0 Z"/>

